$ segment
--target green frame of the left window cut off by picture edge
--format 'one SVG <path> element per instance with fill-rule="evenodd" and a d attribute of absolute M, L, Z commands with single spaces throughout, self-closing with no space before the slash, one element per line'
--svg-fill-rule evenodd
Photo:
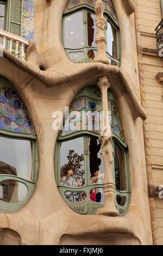
<path fill-rule="evenodd" d="M 1 92 L 1 88 L 3 88 L 3 87 L 14 89 L 14 91 L 17 92 L 16 88 L 8 80 L 6 80 L 4 77 L 0 76 L 0 92 Z M 17 92 L 17 94 L 19 94 L 19 93 Z M 22 102 L 23 102 L 23 100 L 22 100 Z M 26 106 L 24 104 L 24 102 L 23 102 L 23 105 Z M 28 115 L 29 115 L 29 113 L 28 113 Z M 30 116 L 29 116 L 29 118 L 30 118 Z M 36 188 L 38 169 L 39 169 L 37 137 L 35 135 L 35 132 L 33 132 L 32 134 L 26 134 L 26 133 L 10 132 L 10 131 L 0 129 L 0 138 L 1 137 L 32 142 L 31 179 L 27 180 L 27 179 L 21 178 L 20 176 L 16 176 L 16 175 L 12 175 L 12 174 L 5 174 L 5 173 L 0 174 L 0 185 L 1 186 L 5 182 L 14 181 L 14 182 L 20 182 L 21 184 L 25 185 L 28 189 L 27 196 L 24 197 L 23 200 L 16 202 L 16 203 L 4 202 L 0 198 L 0 212 L 2 212 L 2 213 L 17 212 L 18 210 L 22 209 L 24 205 L 27 204 L 27 202 L 32 197 L 32 195 L 35 191 L 35 188 Z"/>

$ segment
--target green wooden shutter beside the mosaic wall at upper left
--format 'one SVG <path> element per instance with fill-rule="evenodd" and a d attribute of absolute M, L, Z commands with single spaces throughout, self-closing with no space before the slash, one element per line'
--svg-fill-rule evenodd
<path fill-rule="evenodd" d="M 22 0 L 10 0 L 9 29 L 12 34 L 21 35 Z"/>

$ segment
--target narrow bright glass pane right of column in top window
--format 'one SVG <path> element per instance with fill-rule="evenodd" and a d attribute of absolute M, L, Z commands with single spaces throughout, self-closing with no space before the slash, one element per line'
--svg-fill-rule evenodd
<path fill-rule="evenodd" d="M 107 51 L 115 58 L 118 58 L 117 52 L 117 32 L 116 29 L 107 22 Z"/>

